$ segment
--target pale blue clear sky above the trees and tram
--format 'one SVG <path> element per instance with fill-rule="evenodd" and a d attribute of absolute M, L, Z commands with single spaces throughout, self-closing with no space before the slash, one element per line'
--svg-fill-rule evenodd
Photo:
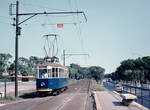
<path fill-rule="evenodd" d="M 15 27 L 9 5 L 16 0 L 0 1 L 0 53 L 15 57 Z M 101 66 L 106 73 L 120 62 L 150 55 L 149 0 L 19 0 L 19 13 L 84 11 L 82 14 L 37 15 L 20 25 L 19 57 L 44 57 L 43 35 L 57 34 L 60 62 L 63 49 L 66 64 Z M 15 14 L 15 5 L 12 13 Z M 29 16 L 19 16 L 20 22 Z M 80 23 L 82 22 L 82 23 Z M 57 24 L 64 24 L 57 28 Z"/>

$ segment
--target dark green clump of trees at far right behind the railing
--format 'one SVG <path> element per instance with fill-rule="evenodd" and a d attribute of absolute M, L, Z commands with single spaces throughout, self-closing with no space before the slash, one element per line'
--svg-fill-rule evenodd
<path fill-rule="evenodd" d="M 120 63 L 115 71 L 115 80 L 146 82 L 150 80 L 150 56 L 128 59 Z"/>

